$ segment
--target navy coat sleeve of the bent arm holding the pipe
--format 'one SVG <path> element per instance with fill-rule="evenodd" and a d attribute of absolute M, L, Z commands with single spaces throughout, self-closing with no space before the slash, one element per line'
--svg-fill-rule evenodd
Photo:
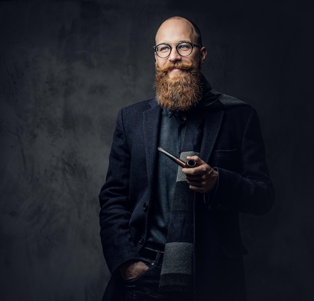
<path fill-rule="evenodd" d="M 254 109 L 245 125 L 240 148 L 240 172 L 219 166 L 216 190 L 212 193 L 210 209 L 235 210 L 262 215 L 274 201 L 274 188 L 269 177 L 262 134 Z"/>

